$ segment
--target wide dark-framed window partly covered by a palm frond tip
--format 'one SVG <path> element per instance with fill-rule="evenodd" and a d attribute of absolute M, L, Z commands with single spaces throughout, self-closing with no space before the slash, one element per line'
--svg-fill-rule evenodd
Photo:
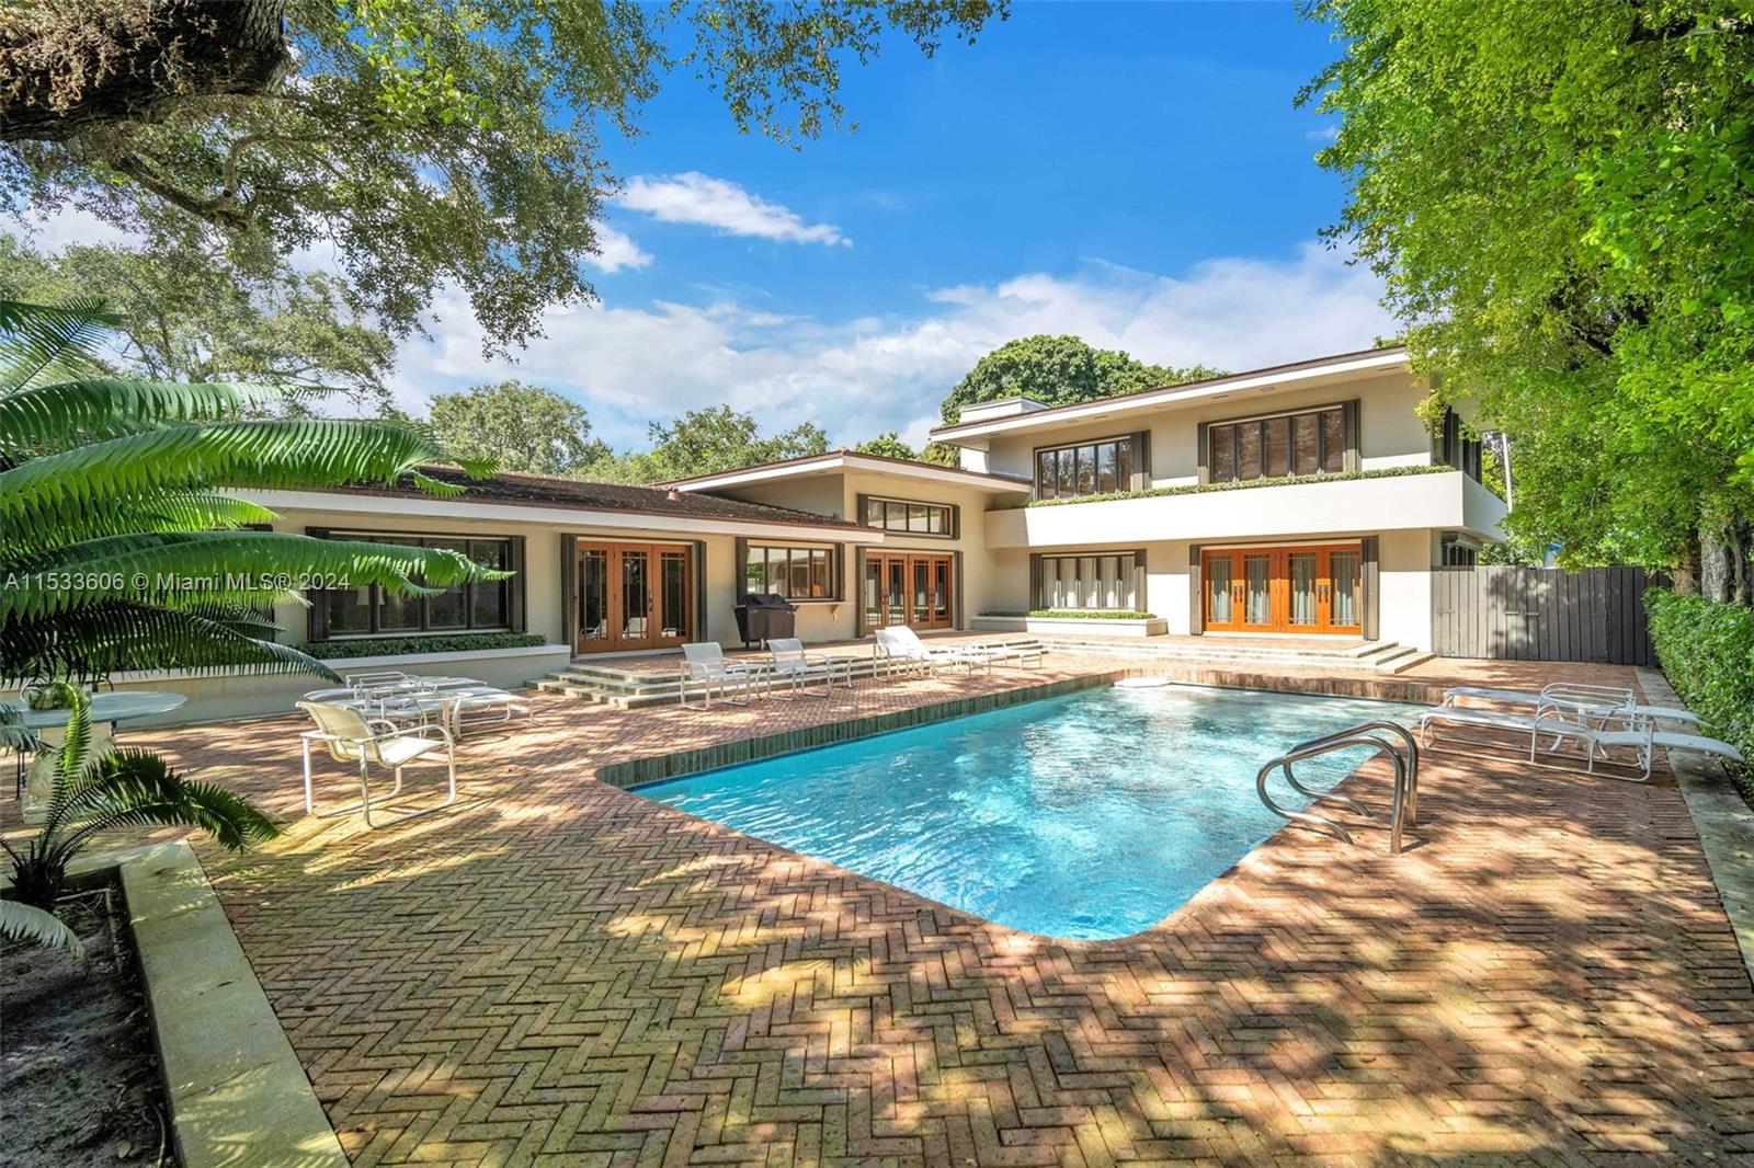
<path fill-rule="evenodd" d="M 516 572 L 516 537 L 475 535 L 386 535 L 381 531 L 310 530 L 330 540 L 367 540 L 407 547 L 442 547 L 484 568 Z M 332 637 L 377 637 L 388 633 L 503 631 L 514 628 L 523 610 L 523 575 L 503 580 L 453 584 L 435 596 L 403 596 L 377 584 L 332 588 L 310 593 L 310 640 Z"/>

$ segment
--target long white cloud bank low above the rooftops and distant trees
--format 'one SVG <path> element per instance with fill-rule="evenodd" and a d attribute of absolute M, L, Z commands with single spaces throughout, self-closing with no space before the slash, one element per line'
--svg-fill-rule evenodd
<path fill-rule="evenodd" d="M 1077 333 L 1161 365 L 1245 370 L 1370 345 L 1394 328 L 1380 291 L 1366 268 L 1316 246 L 1173 277 L 1089 263 L 926 295 L 910 317 L 775 319 L 735 300 L 558 309 L 516 365 L 482 361 L 468 303 L 451 295 L 435 340 L 403 347 L 396 381 L 421 409 L 437 391 L 523 377 L 582 402 L 616 444 L 642 442 L 647 421 L 719 402 L 770 428 L 816 421 L 835 444 L 884 430 L 919 444 L 951 386 L 1014 337 Z"/>

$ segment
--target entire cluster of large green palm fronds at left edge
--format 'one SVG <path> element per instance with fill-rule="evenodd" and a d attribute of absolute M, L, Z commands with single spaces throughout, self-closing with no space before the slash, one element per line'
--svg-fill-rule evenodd
<path fill-rule="evenodd" d="M 333 672 L 275 644 L 263 610 L 337 575 L 426 593 L 491 572 L 444 551 L 242 530 L 239 488 L 403 481 L 440 452 L 409 426 L 226 416 L 274 388 L 81 375 L 91 305 L 0 302 L 0 677 L 119 670 Z M 72 377 L 68 379 L 68 374 Z M 482 470 L 482 468 L 477 468 Z"/>

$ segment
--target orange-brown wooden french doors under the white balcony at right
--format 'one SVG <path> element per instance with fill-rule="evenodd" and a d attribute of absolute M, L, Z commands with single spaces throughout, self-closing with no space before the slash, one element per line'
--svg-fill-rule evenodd
<path fill-rule="evenodd" d="M 1365 631 L 1358 544 L 1238 547 L 1200 556 L 1205 628 L 1214 633 Z"/>

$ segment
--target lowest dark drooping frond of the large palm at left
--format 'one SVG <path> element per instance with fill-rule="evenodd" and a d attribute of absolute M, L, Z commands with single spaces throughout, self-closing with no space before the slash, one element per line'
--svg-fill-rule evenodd
<path fill-rule="evenodd" d="M 0 623 L 0 675 L 75 675 L 88 680 L 126 670 L 193 673 L 340 675 L 293 645 L 275 644 L 275 626 L 235 605 L 161 609 L 112 600 L 37 621 Z"/>

